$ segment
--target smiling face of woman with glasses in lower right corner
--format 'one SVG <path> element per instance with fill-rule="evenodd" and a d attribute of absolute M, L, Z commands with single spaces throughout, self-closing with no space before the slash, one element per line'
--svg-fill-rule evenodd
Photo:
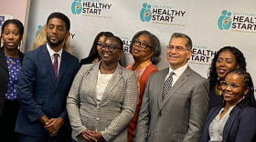
<path fill-rule="evenodd" d="M 225 81 L 227 81 L 230 84 L 238 84 L 241 85 L 237 88 L 231 88 L 230 86 L 228 87 L 223 87 L 221 86 L 221 90 L 223 92 L 223 97 L 224 100 L 229 103 L 229 105 L 234 106 L 236 105 L 240 99 L 246 95 L 249 91 L 249 87 L 246 87 L 244 84 L 244 76 L 240 76 L 234 73 L 229 73 L 225 77 Z"/>

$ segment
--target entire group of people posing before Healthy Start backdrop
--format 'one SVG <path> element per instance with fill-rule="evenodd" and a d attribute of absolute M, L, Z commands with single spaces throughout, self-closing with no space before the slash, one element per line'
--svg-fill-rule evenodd
<path fill-rule="evenodd" d="M 23 25 L 2 25 L 1 142 L 256 140 L 254 87 L 238 48 L 219 49 L 205 79 L 187 64 L 192 40 L 185 34 L 171 35 L 169 66 L 158 71 L 160 41 L 148 31 L 133 35 L 134 61 L 123 67 L 119 37 L 99 33 L 79 63 L 69 29 L 68 16 L 52 13 L 24 55 Z"/>

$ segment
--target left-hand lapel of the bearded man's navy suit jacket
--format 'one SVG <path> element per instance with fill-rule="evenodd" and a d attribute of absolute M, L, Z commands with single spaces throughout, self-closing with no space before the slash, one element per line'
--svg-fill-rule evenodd
<path fill-rule="evenodd" d="M 46 66 L 48 67 L 48 72 L 51 76 L 51 80 L 52 80 L 54 86 L 56 86 L 54 69 L 53 69 L 52 61 L 50 59 L 50 56 L 49 56 L 48 49 L 47 49 L 46 45 L 42 46 L 42 57 L 45 61 Z"/>

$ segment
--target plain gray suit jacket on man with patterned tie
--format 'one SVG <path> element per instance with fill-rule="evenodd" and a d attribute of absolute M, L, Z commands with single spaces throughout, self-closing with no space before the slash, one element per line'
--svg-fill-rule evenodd
<path fill-rule="evenodd" d="M 201 136 L 208 114 L 208 80 L 187 66 L 162 102 L 168 71 L 148 79 L 135 142 L 197 142 Z"/>

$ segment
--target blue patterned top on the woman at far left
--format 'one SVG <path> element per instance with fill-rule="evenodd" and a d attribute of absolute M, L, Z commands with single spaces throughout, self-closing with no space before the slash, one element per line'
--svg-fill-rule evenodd
<path fill-rule="evenodd" d="M 20 58 L 10 57 L 5 54 L 6 63 L 9 70 L 9 80 L 5 92 L 5 100 L 16 99 L 17 76 L 21 67 Z"/>

